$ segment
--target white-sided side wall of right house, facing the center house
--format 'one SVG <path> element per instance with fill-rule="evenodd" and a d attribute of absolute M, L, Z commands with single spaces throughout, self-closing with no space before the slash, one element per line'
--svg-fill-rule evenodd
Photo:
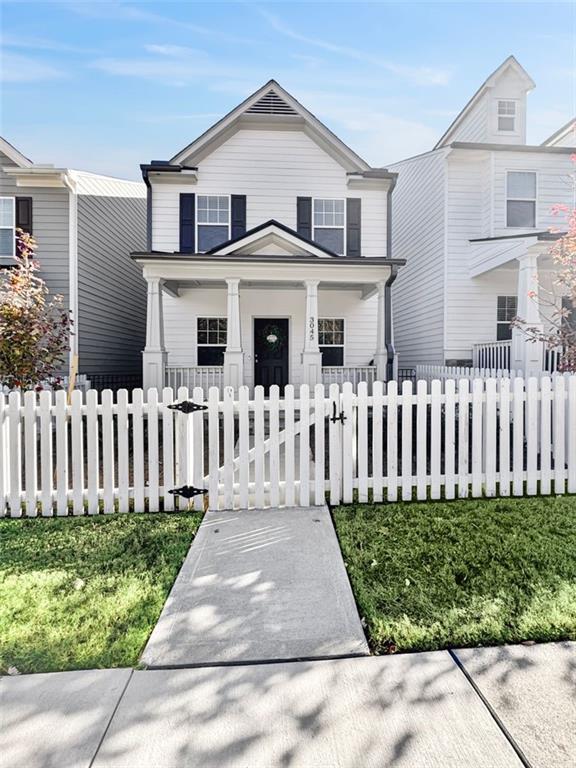
<path fill-rule="evenodd" d="M 442 358 L 444 322 L 443 150 L 398 163 L 392 194 L 392 255 L 406 259 L 392 287 L 401 366 Z"/>

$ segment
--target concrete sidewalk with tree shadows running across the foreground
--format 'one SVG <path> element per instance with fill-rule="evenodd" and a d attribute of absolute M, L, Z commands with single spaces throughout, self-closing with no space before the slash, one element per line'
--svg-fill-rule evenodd
<path fill-rule="evenodd" d="M 557 643 L 5 677 L 0 767 L 572 768 L 575 670 Z"/>

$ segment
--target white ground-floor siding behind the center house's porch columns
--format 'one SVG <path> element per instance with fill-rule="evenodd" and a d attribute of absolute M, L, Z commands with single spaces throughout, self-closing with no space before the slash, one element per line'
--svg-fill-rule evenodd
<path fill-rule="evenodd" d="M 200 288 L 182 291 L 178 298 L 163 295 L 165 344 L 168 364 L 196 365 L 196 318 L 225 317 L 226 291 Z M 368 365 L 376 349 L 376 297 L 362 301 L 359 291 L 318 292 L 319 317 L 344 318 L 344 365 Z M 242 347 L 245 383 L 254 381 L 255 317 L 289 318 L 290 382 L 302 381 L 306 294 L 295 289 L 243 288 L 240 285 Z"/>

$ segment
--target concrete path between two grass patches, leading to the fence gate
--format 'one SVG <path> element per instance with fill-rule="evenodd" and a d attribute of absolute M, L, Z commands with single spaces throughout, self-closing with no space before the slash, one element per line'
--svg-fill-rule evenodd
<path fill-rule="evenodd" d="M 369 653 L 326 507 L 208 512 L 142 655 L 149 668 Z"/>

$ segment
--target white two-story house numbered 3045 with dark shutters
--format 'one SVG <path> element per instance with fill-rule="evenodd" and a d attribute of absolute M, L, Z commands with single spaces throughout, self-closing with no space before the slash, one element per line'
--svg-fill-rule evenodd
<path fill-rule="evenodd" d="M 396 174 L 273 80 L 142 172 L 145 387 L 391 377 Z"/>

